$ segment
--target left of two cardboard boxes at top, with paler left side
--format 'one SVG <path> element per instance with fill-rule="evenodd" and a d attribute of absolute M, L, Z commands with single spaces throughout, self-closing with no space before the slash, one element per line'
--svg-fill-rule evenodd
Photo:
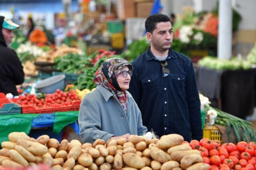
<path fill-rule="evenodd" d="M 134 0 L 118 0 L 117 1 L 117 16 L 120 20 L 136 17 Z"/>

